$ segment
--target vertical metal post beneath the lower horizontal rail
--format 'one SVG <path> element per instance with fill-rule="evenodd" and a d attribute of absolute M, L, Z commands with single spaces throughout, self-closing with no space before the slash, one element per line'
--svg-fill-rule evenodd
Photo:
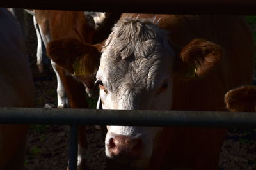
<path fill-rule="evenodd" d="M 78 126 L 70 125 L 68 170 L 77 170 Z"/>

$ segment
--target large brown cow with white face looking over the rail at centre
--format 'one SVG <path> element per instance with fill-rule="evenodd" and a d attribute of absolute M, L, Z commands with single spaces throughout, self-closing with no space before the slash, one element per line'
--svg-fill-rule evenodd
<path fill-rule="evenodd" d="M 252 82 L 255 46 L 242 17 L 124 14 L 102 48 L 103 109 L 225 111 Z M 109 169 L 218 169 L 226 129 L 108 126 Z"/>

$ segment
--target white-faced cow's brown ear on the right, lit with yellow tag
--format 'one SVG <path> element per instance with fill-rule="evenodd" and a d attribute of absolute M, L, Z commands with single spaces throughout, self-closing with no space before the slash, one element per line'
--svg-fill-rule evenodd
<path fill-rule="evenodd" d="M 218 65 L 223 49 L 211 41 L 194 39 L 184 48 L 174 46 L 177 57 L 176 70 L 183 78 L 204 77 Z"/>

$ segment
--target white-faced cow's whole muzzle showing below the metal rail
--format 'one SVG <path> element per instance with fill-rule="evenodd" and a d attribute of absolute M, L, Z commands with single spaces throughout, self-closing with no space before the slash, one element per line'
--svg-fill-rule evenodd
<path fill-rule="evenodd" d="M 154 138 L 162 127 L 107 126 L 105 139 L 106 157 L 114 162 L 114 167 L 145 169 L 148 166 Z M 112 168 L 115 169 L 115 168 Z"/>

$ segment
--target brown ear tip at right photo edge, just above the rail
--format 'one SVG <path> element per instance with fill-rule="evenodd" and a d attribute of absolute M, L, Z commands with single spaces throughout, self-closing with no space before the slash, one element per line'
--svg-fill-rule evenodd
<path fill-rule="evenodd" d="M 230 90 L 225 94 L 225 104 L 230 111 L 256 111 L 256 87 L 246 86 Z"/>

